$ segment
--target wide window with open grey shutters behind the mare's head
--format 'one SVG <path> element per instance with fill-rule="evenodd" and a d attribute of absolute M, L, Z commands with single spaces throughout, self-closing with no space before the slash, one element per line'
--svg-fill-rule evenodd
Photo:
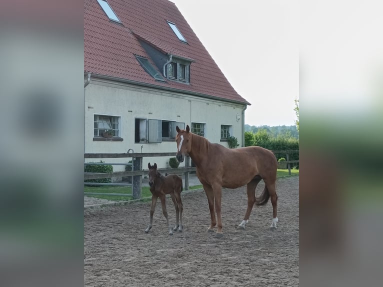
<path fill-rule="evenodd" d="M 136 118 L 134 142 L 159 143 L 173 141 L 177 134 L 175 130 L 177 125 L 179 128 L 185 128 L 184 122 Z"/>

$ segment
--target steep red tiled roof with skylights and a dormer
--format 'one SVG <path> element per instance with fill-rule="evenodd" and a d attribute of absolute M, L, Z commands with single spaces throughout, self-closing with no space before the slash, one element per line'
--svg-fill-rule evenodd
<path fill-rule="evenodd" d="M 97 0 L 84 0 L 84 71 L 181 89 L 249 104 L 228 82 L 173 2 L 168 0 L 108 0 L 121 23 L 109 20 Z M 187 43 L 180 41 L 166 20 L 175 23 Z M 134 54 L 150 59 L 138 42 L 195 60 L 190 84 L 156 81 Z M 159 70 L 162 74 L 162 70 Z"/>

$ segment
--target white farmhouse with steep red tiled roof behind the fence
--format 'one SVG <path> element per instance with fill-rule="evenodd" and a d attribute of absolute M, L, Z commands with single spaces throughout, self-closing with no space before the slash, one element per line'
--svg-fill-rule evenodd
<path fill-rule="evenodd" d="M 186 124 L 243 146 L 250 104 L 168 0 L 84 0 L 84 101 L 87 153 L 175 152 L 175 126 Z M 146 161 L 166 167 L 168 158 Z"/>

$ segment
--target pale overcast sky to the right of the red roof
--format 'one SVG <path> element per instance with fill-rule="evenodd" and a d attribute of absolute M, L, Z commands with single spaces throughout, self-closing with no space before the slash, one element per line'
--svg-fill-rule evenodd
<path fill-rule="evenodd" d="M 296 1 L 171 0 L 233 88 L 249 125 L 294 125 L 299 98 Z"/>

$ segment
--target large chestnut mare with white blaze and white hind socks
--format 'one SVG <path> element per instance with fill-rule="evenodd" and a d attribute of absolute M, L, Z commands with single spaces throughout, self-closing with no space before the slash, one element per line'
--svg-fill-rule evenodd
<path fill-rule="evenodd" d="M 275 191 L 276 166 L 275 155 L 268 149 L 260 146 L 247 146 L 240 148 L 226 148 L 217 143 L 211 143 L 203 136 L 190 132 L 186 129 L 179 129 L 176 126 L 177 143 L 176 158 L 182 162 L 185 154 L 196 166 L 196 174 L 205 190 L 210 209 L 211 225 L 208 232 L 213 232 L 217 225 L 215 236 L 221 237 L 221 192 L 222 187 L 237 188 L 247 184 L 247 210 L 242 222 L 238 225 L 244 228 L 248 222 L 252 206 L 263 205 L 271 197 L 273 219 L 270 227 L 276 228 L 276 200 L 278 196 Z M 263 179 L 265 187 L 259 198 L 255 196 L 255 187 Z M 215 220 L 214 214 L 217 214 Z"/>

